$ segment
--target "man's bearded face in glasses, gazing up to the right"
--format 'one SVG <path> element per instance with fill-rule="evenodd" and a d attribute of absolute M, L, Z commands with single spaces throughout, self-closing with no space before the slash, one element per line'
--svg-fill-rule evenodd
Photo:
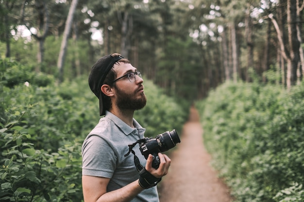
<path fill-rule="evenodd" d="M 136 68 L 131 64 L 119 63 L 115 66 L 117 78 L 135 72 Z M 138 110 L 145 107 L 147 98 L 144 93 L 143 79 L 136 76 L 135 82 L 130 82 L 128 77 L 116 81 L 116 106 L 119 109 Z"/>

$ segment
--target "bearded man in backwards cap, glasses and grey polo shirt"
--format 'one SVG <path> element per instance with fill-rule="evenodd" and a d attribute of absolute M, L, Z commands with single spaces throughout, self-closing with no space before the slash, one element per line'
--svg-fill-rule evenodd
<path fill-rule="evenodd" d="M 135 155 L 144 168 L 135 166 L 128 144 L 144 138 L 145 128 L 133 118 L 146 105 L 143 79 L 129 60 L 106 55 L 92 67 L 89 86 L 99 98 L 99 124 L 83 143 L 84 202 L 158 202 L 156 184 L 169 170 L 171 160 L 159 153 L 160 166 L 152 168 L 138 144 Z M 140 171 L 140 172 L 139 172 Z"/>

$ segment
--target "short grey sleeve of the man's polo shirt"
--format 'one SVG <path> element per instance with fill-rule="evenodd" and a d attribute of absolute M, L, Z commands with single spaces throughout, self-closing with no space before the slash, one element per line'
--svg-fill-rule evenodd
<path fill-rule="evenodd" d="M 82 148 L 82 174 L 112 178 L 116 169 L 117 156 L 107 140 L 90 135 Z"/>

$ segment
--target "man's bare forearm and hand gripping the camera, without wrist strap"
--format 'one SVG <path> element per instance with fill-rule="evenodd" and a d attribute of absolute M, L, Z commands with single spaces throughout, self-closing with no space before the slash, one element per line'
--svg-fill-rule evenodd
<path fill-rule="evenodd" d="M 160 157 L 159 168 L 157 170 L 152 168 L 153 157 L 149 155 L 145 169 L 155 177 L 160 178 L 168 173 L 171 160 L 167 155 L 161 153 L 158 155 Z M 127 186 L 107 192 L 106 187 L 109 181 L 110 178 L 83 175 L 84 202 L 130 202 L 144 190 L 136 180 Z"/>

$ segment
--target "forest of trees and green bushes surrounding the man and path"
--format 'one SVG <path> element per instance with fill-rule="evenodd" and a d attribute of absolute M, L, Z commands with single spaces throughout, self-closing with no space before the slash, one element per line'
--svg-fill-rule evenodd
<path fill-rule="evenodd" d="M 0 0 L 0 201 L 82 201 L 91 66 L 145 78 L 146 136 L 201 114 L 236 202 L 304 200 L 303 0 Z M 213 147 L 213 145 L 216 145 Z"/>

